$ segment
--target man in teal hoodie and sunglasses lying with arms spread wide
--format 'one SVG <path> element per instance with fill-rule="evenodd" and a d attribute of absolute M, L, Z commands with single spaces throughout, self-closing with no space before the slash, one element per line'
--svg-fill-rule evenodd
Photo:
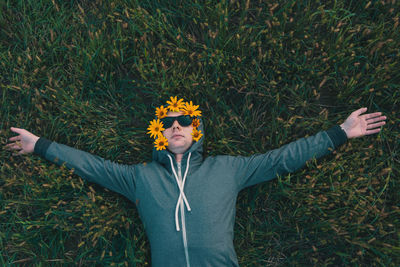
<path fill-rule="evenodd" d="M 184 110 L 169 111 L 149 127 L 157 140 L 153 162 L 122 165 L 19 128 L 7 149 L 35 152 L 82 178 L 123 194 L 136 203 L 148 235 L 153 266 L 238 266 L 233 246 L 235 204 L 245 187 L 268 181 L 330 153 L 348 138 L 378 133 L 380 112 L 354 111 L 340 126 L 302 138 L 265 154 L 202 157 L 204 136 L 193 142 L 193 120 Z M 154 126 L 154 125 L 153 125 Z M 161 127 L 158 127 L 161 126 Z M 165 128 L 163 128 L 165 126 Z M 203 123 L 197 131 L 204 133 Z M 158 131 L 158 132 L 157 132 Z M 168 149 L 162 149 L 164 145 Z M 161 148 L 160 148 L 161 147 Z"/>

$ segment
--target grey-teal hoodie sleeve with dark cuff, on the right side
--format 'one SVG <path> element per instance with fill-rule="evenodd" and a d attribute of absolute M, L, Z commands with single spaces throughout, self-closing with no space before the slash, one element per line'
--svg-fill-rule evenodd
<path fill-rule="evenodd" d="M 303 167 L 308 160 L 331 153 L 346 140 L 346 133 L 340 126 L 334 126 L 265 154 L 237 157 L 239 190 L 271 180 L 277 175 L 294 172 Z"/>

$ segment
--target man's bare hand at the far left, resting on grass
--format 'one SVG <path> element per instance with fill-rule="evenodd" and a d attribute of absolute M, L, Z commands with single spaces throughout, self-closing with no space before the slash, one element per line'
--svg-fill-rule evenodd
<path fill-rule="evenodd" d="M 11 127 L 11 131 L 19 134 L 17 136 L 11 137 L 9 141 L 14 141 L 4 146 L 7 150 L 16 150 L 18 152 L 13 153 L 13 156 L 18 156 L 22 154 L 29 154 L 34 151 L 35 144 L 39 137 L 28 132 L 25 129 Z"/>

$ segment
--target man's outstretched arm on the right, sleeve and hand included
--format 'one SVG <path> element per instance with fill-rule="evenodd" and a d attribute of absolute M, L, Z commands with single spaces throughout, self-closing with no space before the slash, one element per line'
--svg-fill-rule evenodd
<path fill-rule="evenodd" d="M 346 142 L 348 138 L 356 138 L 378 133 L 385 124 L 385 116 L 381 112 L 364 114 L 366 108 L 361 108 L 350 114 L 339 125 L 316 135 L 301 138 L 265 154 L 251 157 L 236 157 L 235 166 L 240 166 L 238 172 L 240 189 L 268 181 L 277 175 L 294 172 L 303 167 L 312 158 L 320 158 L 331 153 Z"/>

